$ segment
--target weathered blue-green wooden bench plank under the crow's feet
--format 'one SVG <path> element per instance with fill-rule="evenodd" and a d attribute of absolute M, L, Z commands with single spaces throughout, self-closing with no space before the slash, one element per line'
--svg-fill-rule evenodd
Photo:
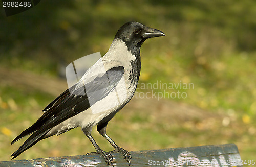
<path fill-rule="evenodd" d="M 146 150 L 131 152 L 131 166 L 242 166 L 238 148 L 234 144 Z M 120 153 L 112 153 L 114 166 L 128 166 Z M 78 155 L 32 160 L 0 162 L 1 167 L 106 166 L 100 155 Z"/>

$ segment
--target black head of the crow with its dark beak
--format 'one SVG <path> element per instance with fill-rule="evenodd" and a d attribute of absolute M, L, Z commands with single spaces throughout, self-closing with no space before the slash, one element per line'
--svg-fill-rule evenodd
<path fill-rule="evenodd" d="M 129 50 L 133 50 L 140 49 L 140 46 L 147 38 L 164 35 L 162 31 L 146 27 L 139 22 L 127 22 L 117 31 L 115 39 L 122 40 Z"/>

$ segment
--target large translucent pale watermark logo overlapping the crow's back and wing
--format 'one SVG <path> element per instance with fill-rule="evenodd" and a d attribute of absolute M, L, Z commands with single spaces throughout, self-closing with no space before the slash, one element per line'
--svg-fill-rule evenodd
<path fill-rule="evenodd" d="M 93 114 L 113 109 L 127 99 L 123 67 L 109 69 L 105 66 L 109 64 L 97 52 L 66 67 L 70 93 L 77 98 L 87 97 Z"/>

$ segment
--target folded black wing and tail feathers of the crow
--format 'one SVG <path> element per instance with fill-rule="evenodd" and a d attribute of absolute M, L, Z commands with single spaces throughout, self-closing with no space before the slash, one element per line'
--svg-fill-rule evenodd
<path fill-rule="evenodd" d="M 51 128 L 87 110 L 91 105 L 108 96 L 115 89 L 123 74 L 123 66 L 113 67 L 101 77 L 96 77 L 82 87 L 76 88 L 76 84 L 60 94 L 59 97 L 43 110 L 45 113 L 31 127 L 24 130 L 12 141 L 11 144 L 33 133 L 11 156 L 16 158 L 38 141 L 44 139 Z M 90 94 L 90 97 L 88 97 L 88 94 Z"/>

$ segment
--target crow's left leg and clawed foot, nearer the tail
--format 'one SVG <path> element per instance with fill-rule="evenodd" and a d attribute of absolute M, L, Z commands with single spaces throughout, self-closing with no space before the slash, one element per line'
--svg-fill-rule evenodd
<path fill-rule="evenodd" d="M 86 155 L 91 155 L 91 154 L 100 154 L 103 156 L 105 162 L 107 163 L 107 165 L 109 166 L 113 166 L 113 157 L 110 153 L 103 151 L 96 143 L 96 141 L 93 139 L 91 132 L 88 133 L 87 130 L 83 130 L 84 134 L 86 134 L 86 136 L 89 138 L 89 140 L 92 142 L 94 148 L 96 149 L 96 152 L 92 152 L 92 153 L 87 153 Z"/>

